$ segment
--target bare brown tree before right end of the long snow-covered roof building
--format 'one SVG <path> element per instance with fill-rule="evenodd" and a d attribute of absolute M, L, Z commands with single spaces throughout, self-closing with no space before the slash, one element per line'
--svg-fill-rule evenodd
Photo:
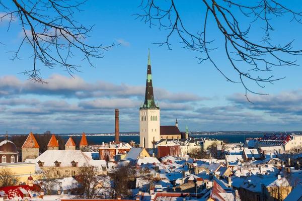
<path fill-rule="evenodd" d="M 104 185 L 104 182 L 108 182 L 107 177 L 99 176 L 100 170 L 96 166 L 85 164 L 80 167 L 78 183 L 80 184 L 80 191 L 83 193 L 86 199 L 94 199 L 99 191 L 100 187 Z"/>

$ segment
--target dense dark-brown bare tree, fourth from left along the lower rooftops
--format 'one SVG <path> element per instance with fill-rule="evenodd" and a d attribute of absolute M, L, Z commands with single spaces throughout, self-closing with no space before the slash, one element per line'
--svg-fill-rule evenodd
<path fill-rule="evenodd" d="M 128 198 L 131 196 L 129 180 L 134 175 L 131 166 L 116 166 L 111 171 L 112 186 L 108 189 L 110 199 L 117 199 L 117 196 Z"/>

